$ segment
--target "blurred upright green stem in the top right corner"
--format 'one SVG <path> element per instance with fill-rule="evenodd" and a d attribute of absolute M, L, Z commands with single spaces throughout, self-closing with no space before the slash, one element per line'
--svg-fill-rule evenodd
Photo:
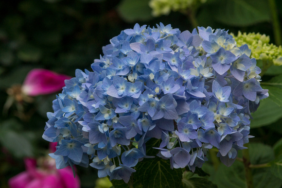
<path fill-rule="evenodd" d="M 275 0 L 268 0 L 269 8 L 272 16 L 272 27 L 274 32 L 275 43 L 277 46 L 282 44 L 281 41 L 281 27 L 279 23 L 278 12 L 275 4 Z"/>

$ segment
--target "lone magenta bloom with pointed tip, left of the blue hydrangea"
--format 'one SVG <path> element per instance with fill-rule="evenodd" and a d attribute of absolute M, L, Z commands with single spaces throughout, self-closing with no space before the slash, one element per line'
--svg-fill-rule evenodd
<path fill-rule="evenodd" d="M 70 76 L 57 74 L 51 70 L 35 68 L 26 76 L 22 92 L 28 96 L 50 94 L 62 90 Z"/>

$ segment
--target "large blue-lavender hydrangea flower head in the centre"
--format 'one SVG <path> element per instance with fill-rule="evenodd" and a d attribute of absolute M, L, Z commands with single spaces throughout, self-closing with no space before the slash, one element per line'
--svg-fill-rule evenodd
<path fill-rule="evenodd" d="M 250 112 L 268 96 L 261 70 L 227 31 L 192 33 L 162 23 L 126 29 L 103 47 L 93 71 L 76 70 L 53 101 L 43 138 L 58 142 L 57 168 L 98 169 L 99 177 L 128 182 L 146 142 L 172 168 L 202 167 L 209 149 L 230 165 L 245 149 Z"/>

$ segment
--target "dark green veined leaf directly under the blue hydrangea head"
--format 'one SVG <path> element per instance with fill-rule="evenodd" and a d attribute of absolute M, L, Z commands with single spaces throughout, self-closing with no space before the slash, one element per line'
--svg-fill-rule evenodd
<path fill-rule="evenodd" d="M 170 161 L 159 157 L 144 158 L 135 167 L 134 176 L 143 188 L 180 188 L 182 180 L 181 169 L 171 169 Z"/>

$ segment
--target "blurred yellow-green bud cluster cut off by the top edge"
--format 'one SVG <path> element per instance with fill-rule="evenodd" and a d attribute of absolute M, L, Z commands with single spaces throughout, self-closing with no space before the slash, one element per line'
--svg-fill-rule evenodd
<path fill-rule="evenodd" d="M 184 11 L 196 3 L 207 0 L 151 0 L 149 6 L 153 9 L 153 16 L 168 15 L 171 11 Z"/>

